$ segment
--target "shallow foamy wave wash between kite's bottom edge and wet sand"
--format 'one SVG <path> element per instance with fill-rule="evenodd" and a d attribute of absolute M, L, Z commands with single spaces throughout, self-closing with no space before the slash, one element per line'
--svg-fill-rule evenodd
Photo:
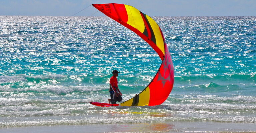
<path fill-rule="evenodd" d="M 78 124 L 113 124 L 113 123 L 151 123 L 151 122 L 243 122 L 255 123 L 255 110 L 219 110 L 220 106 L 207 110 L 206 105 L 159 105 L 143 107 L 96 107 L 90 104 L 30 104 L 26 106 L 9 106 L 0 108 L 0 116 L 13 117 L 13 121 L 1 121 L 1 127 L 6 126 L 38 126 L 38 125 L 78 125 Z M 228 108 L 224 107 L 223 108 Z M 210 105 L 208 105 L 210 107 Z M 171 108 L 171 109 L 170 109 Z M 181 109 L 183 108 L 183 109 Z M 200 109 L 203 108 L 203 109 Z M 254 107 L 255 108 L 255 107 Z M 227 116 L 228 113 L 228 116 Z M 102 115 L 106 114 L 106 115 Z M 111 115 L 109 115 L 111 114 Z M 51 118 L 51 120 L 46 120 Z M 51 117 L 54 116 L 54 117 Z M 98 119 L 98 117 L 101 119 Z M 24 117 L 24 118 L 23 118 Z M 8 117 L 3 117 L 8 118 Z M 63 119 L 64 118 L 64 119 Z M 35 119 L 35 120 L 34 120 Z M 42 120 L 39 120 L 42 119 Z"/>

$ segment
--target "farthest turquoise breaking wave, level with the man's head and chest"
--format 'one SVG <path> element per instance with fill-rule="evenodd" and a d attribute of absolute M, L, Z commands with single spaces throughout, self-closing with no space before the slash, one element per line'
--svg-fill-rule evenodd
<path fill-rule="evenodd" d="M 151 71 L 150 71 L 151 72 Z M 151 72 L 152 73 L 152 72 Z M 94 78 L 97 80 L 107 80 L 109 77 L 111 77 L 110 74 L 106 75 L 94 75 L 94 74 L 80 74 L 80 75 L 61 75 L 61 74 L 50 74 L 50 75 L 34 75 L 29 76 L 25 74 L 18 74 L 18 75 L 1 75 L 0 76 L 0 84 L 1 83 L 12 83 L 12 82 L 20 82 L 20 81 L 34 81 L 34 80 L 65 80 L 67 78 L 73 78 L 77 77 L 80 79 L 86 79 L 86 78 Z M 133 80 L 142 80 L 143 82 L 150 82 L 151 78 L 153 76 L 150 75 L 124 75 L 122 79 L 125 82 L 133 83 Z M 86 80 L 88 80 L 86 79 Z M 194 81 L 194 82 L 201 82 L 201 81 L 228 81 L 228 82 L 236 82 L 236 81 L 249 81 L 250 83 L 256 83 L 256 76 L 255 73 L 252 74 L 226 74 L 226 75 L 192 75 L 191 76 L 176 76 L 175 82 L 176 83 L 182 83 L 187 81 Z M 138 81 L 136 81 L 138 82 Z"/>

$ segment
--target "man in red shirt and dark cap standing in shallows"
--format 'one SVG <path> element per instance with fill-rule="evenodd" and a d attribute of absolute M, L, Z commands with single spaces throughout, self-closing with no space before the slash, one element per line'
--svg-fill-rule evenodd
<path fill-rule="evenodd" d="M 108 102 L 111 104 L 116 104 L 116 101 L 121 102 L 123 100 L 123 98 L 121 97 L 123 94 L 121 93 L 121 91 L 118 88 L 118 81 L 117 81 L 117 76 L 118 76 L 118 72 L 117 70 L 112 71 L 113 76 L 110 78 L 109 81 L 109 93 L 110 93 L 110 99 L 108 99 Z"/>

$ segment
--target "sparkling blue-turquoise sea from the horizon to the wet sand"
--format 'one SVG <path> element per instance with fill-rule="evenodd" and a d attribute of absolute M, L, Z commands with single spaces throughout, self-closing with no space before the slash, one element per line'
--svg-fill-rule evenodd
<path fill-rule="evenodd" d="M 256 122 L 256 17 L 153 17 L 175 81 L 159 106 L 108 102 L 112 70 L 123 101 L 161 60 L 108 17 L 0 16 L 0 128 L 162 122 Z M 103 126 L 104 127 L 104 126 Z"/>

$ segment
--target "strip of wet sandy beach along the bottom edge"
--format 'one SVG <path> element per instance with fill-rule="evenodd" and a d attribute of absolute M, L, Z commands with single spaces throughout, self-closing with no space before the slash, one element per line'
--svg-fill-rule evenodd
<path fill-rule="evenodd" d="M 1 133 L 256 133 L 255 123 L 165 122 L 1 128 Z"/>

